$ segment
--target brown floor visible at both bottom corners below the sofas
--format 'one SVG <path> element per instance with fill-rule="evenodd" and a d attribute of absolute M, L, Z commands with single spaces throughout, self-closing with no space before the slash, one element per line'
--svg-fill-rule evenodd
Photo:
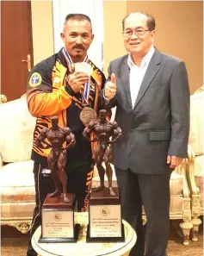
<path fill-rule="evenodd" d="M 177 225 L 177 224 L 176 224 Z M 190 241 L 189 246 L 182 245 L 181 233 L 176 225 L 170 223 L 170 239 L 168 245 L 168 256 L 202 256 L 203 255 L 203 227 L 200 228 L 199 240 L 197 242 Z M 2 256 L 26 256 L 28 245 L 28 234 L 20 234 L 15 228 L 2 228 Z"/>

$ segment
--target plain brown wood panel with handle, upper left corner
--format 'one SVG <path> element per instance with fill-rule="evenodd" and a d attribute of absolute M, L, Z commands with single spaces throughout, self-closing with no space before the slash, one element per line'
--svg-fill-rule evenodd
<path fill-rule="evenodd" d="M 22 59 L 33 59 L 30 1 L 1 2 L 1 29 L 1 93 L 10 101 L 26 92 L 28 64 Z"/>

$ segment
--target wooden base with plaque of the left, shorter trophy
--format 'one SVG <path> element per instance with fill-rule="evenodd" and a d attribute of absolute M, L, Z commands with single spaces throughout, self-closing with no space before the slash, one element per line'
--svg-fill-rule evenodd
<path fill-rule="evenodd" d="M 63 200 L 63 194 L 57 197 L 46 196 L 41 210 L 40 243 L 77 242 L 80 225 L 74 222 L 76 197 L 67 194 L 68 203 Z"/>

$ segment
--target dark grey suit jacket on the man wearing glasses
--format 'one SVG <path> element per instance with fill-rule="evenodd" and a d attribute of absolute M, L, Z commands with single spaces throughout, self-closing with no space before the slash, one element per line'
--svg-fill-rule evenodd
<path fill-rule="evenodd" d="M 116 105 L 115 121 L 122 129 L 114 142 L 113 164 L 133 172 L 166 172 L 167 155 L 186 158 L 189 140 L 189 82 L 184 63 L 155 49 L 134 106 L 131 102 L 128 55 L 108 67 L 117 91 L 108 105 Z M 102 104 L 107 105 L 101 94 Z"/>

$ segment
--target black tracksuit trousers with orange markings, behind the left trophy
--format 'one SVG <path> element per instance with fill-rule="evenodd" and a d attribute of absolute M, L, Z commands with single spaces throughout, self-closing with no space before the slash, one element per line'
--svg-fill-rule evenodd
<path fill-rule="evenodd" d="M 28 242 L 27 256 L 37 256 L 31 245 L 31 238 L 34 231 L 41 225 L 41 208 L 46 195 L 55 190 L 53 179 L 50 173 L 46 173 L 47 166 L 34 162 L 34 184 L 35 184 L 35 208 L 30 240 Z M 89 206 L 90 187 L 93 177 L 93 165 L 89 162 L 77 163 L 74 167 L 67 168 L 67 190 L 68 193 L 75 193 L 77 197 L 77 210 L 86 211 Z"/>

